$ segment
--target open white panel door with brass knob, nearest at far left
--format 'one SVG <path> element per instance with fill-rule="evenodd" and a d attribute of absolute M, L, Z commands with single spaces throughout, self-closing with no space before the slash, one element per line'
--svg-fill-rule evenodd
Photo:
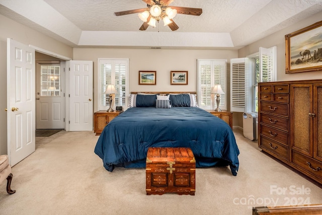
<path fill-rule="evenodd" d="M 7 132 L 11 166 L 35 151 L 35 49 L 7 39 Z"/>

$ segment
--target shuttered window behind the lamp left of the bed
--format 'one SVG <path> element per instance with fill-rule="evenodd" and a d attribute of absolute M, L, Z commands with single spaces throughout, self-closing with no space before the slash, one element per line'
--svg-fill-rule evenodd
<path fill-rule="evenodd" d="M 109 96 L 104 94 L 108 85 L 114 85 L 116 93 L 112 104 L 126 109 L 128 97 L 128 59 L 98 58 L 98 107 L 109 107 Z"/>

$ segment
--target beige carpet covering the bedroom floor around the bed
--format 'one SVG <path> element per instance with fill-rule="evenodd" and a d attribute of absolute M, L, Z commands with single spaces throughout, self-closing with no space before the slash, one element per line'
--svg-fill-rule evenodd
<path fill-rule="evenodd" d="M 0 184 L 0 214 L 252 214 L 255 205 L 322 203 L 322 189 L 234 133 L 238 175 L 229 168 L 198 168 L 195 196 L 147 196 L 145 169 L 106 171 L 91 131 L 37 137 L 36 152 L 12 169 L 16 193 L 7 194 L 6 183 Z"/>

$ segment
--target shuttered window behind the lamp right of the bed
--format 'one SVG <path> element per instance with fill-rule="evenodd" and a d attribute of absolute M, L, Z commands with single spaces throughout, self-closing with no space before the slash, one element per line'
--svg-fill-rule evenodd
<path fill-rule="evenodd" d="M 227 60 L 198 59 L 198 106 L 203 109 L 214 109 L 214 85 L 221 85 L 224 95 L 220 95 L 220 109 L 227 109 Z"/>

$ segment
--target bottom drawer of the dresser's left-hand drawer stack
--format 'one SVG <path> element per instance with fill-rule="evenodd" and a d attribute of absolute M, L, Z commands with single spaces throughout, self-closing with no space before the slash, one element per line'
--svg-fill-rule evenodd
<path fill-rule="evenodd" d="M 261 136 L 260 147 L 272 152 L 274 155 L 278 157 L 288 160 L 288 147 L 285 147 L 278 142 L 268 139 L 264 136 Z"/>

